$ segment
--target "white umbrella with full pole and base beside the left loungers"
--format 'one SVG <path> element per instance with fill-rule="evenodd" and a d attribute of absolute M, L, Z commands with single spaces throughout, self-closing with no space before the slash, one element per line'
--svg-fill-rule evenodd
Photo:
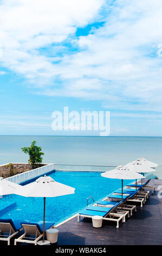
<path fill-rule="evenodd" d="M 50 176 L 46 175 L 38 178 L 36 181 L 28 185 L 22 186 L 21 189 L 17 190 L 17 194 L 20 196 L 44 198 L 43 241 L 38 242 L 39 245 L 45 245 L 49 243 L 49 241 L 44 240 L 46 197 L 60 197 L 66 194 L 74 194 L 74 191 L 74 187 L 56 182 Z"/>

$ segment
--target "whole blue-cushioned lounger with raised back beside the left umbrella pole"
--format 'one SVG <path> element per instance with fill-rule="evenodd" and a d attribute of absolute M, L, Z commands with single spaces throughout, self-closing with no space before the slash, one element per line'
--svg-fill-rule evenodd
<path fill-rule="evenodd" d="M 54 222 L 45 222 L 45 230 L 49 228 L 54 228 Z M 38 223 L 21 223 L 22 228 L 24 229 L 24 234 L 15 239 L 14 245 L 17 242 L 24 242 L 24 243 L 34 243 L 37 245 L 37 241 L 43 237 L 43 222 Z"/>

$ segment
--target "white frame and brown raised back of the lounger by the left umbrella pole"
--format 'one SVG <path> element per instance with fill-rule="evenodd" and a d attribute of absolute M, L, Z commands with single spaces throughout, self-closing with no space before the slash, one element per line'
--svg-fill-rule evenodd
<path fill-rule="evenodd" d="M 34 245 L 37 245 L 37 241 L 43 237 L 43 234 L 40 233 L 37 226 L 31 224 L 22 224 L 22 227 L 25 232 L 23 235 L 18 237 L 18 239 L 15 239 L 14 245 L 16 245 L 17 242 L 34 243 Z M 54 228 L 54 225 L 51 228 Z"/>

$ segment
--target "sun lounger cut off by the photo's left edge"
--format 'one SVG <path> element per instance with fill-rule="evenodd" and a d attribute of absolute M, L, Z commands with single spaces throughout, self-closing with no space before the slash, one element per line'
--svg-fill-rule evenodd
<path fill-rule="evenodd" d="M 22 229 L 21 221 L 12 221 L 11 219 L 0 220 L 0 240 L 7 241 L 10 245 L 10 239 L 17 235 Z M 27 221 L 26 221 L 27 222 Z"/>

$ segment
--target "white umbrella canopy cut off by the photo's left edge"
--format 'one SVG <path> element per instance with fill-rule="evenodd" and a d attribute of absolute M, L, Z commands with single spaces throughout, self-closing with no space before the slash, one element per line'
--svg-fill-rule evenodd
<path fill-rule="evenodd" d="M 21 185 L 9 180 L 3 180 L 3 178 L 0 177 L 0 196 L 4 196 L 5 194 L 16 194 L 17 190 L 21 187 Z"/>

